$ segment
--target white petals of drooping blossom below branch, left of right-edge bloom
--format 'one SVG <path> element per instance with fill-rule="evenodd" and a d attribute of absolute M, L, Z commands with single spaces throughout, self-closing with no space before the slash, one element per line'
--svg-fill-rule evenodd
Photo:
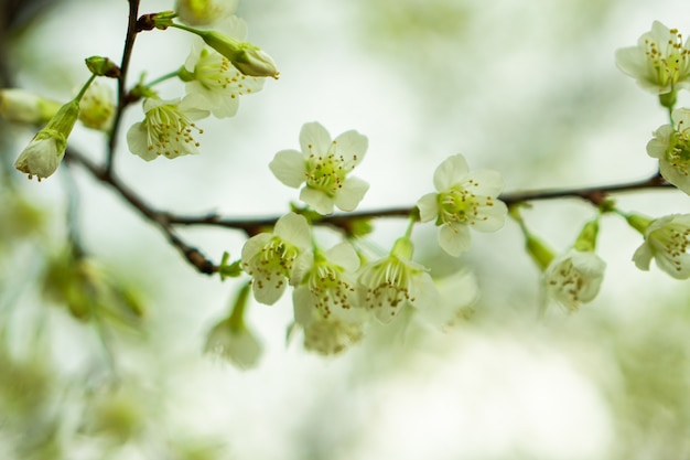
<path fill-rule="evenodd" d="M 556 257 L 545 270 L 549 297 L 568 311 L 594 300 L 604 280 L 606 263 L 591 250 L 571 248 Z"/>

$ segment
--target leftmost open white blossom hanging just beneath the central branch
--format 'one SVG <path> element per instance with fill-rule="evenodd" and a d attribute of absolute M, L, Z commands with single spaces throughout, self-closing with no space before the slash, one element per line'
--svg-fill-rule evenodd
<path fill-rule="evenodd" d="M 306 218 L 294 213 L 280 217 L 272 233 L 260 233 L 245 243 L 242 268 L 254 278 L 257 301 L 270 306 L 280 299 L 298 256 L 310 246 Z"/>

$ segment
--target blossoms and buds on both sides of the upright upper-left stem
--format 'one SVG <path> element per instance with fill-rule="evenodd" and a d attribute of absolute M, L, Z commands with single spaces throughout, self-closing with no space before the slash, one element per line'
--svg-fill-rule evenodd
<path fill-rule="evenodd" d="M 175 28 L 194 34 L 195 42 L 186 62 L 176 72 L 140 84 L 126 94 L 128 100 L 143 99 L 144 118 L 127 132 L 132 153 L 147 161 L 197 153 L 197 138 L 203 129 L 195 121 L 211 115 L 233 117 L 240 96 L 261 90 L 266 77 L 278 77 L 271 57 L 245 41 L 246 24 L 231 15 L 236 6 L 235 0 L 177 0 L 175 11 L 144 14 L 139 19 L 144 24 L 143 30 Z M 30 179 L 35 175 L 41 180 L 55 172 L 77 119 L 87 128 L 105 132 L 112 128 L 116 111 L 112 88 L 94 78 L 119 78 L 120 69 L 99 56 L 86 60 L 86 64 L 91 77 L 73 100 L 62 106 L 19 89 L 0 92 L 3 118 L 24 124 L 47 122 L 15 162 L 15 168 Z M 184 82 L 183 97 L 164 99 L 153 89 L 155 84 L 171 77 Z"/>

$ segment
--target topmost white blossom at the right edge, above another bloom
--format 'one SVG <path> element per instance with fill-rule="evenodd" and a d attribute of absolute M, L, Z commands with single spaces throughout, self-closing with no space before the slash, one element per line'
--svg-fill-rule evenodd
<path fill-rule="evenodd" d="M 673 93 L 690 87 L 690 41 L 682 43 L 677 29 L 654 21 L 637 46 L 616 51 L 616 65 L 653 94 Z"/>

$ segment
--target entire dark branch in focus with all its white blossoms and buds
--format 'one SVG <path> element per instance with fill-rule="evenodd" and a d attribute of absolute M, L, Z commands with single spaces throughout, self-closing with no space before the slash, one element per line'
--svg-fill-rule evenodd
<path fill-rule="evenodd" d="M 177 0 L 174 10 L 139 14 L 139 2 L 130 1 L 121 62 L 115 64 L 103 56 L 86 58 L 90 76 L 74 98 L 61 104 L 18 88 L 0 90 L 2 117 L 43 126 L 14 163 L 29 179 L 36 176 L 41 181 L 55 173 L 69 151 L 68 138 L 77 121 L 100 130 L 109 146 L 103 165 L 90 163 L 77 151 L 72 151 L 68 159 L 118 191 L 200 271 L 218 274 L 222 279 L 244 277 L 227 315 L 211 330 L 206 351 L 244 367 L 256 365 L 260 341 L 245 322 L 250 293 L 259 303 L 274 304 L 290 290 L 294 314 L 291 329 L 301 328 L 304 346 L 322 354 L 339 353 L 362 340 L 369 328 L 389 324 L 401 315 L 427 314 L 443 318 L 443 324 L 454 322 L 476 298 L 474 278 L 463 271 L 456 280 L 449 281 L 462 286 L 466 295 L 441 293 L 439 280 L 416 259 L 412 229 L 417 225 L 438 227 L 439 247 L 460 257 L 471 249 L 471 231 L 497 232 L 506 217 L 511 217 L 522 232 L 527 254 L 542 272 L 546 299 L 568 312 L 591 302 L 604 280 L 606 263 L 596 254 L 603 214 L 622 216 L 642 234 L 643 243 L 633 256 L 638 268 L 648 270 L 655 259 L 672 277 L 690 278 L 690 215 L 650 218 L 618 210 L 607 196 L 615 191 L 668 184 L 690 194 L 690 108 L 676 107 L 678 92 L 690 89 L 690 47 L 678 30 L 660 22 L 654 22 L 651 31 L 642 35 L 636 46 L 616 52 L 617 66 L 645 90 L 657 95 L 669 114 L 669 124 L 659 127 L 647 145 L 648 154 L 659 161 L 660 174 L 648 181 L 596 190 L 507 194 L 503 193 L 504 182 L 497 171 L 473 171 L 462 154 L 452 154 L 438 165 L 430 180 L 435 190 L 419 197 L 414 205 L 356 212 L 369 190 L 368 182 L 353 175 L 365 160 L 367 137 L 349 130 L 333 138 L 326 128 L 313 121 L 303 125 L 299 149 L 281 150 L 268 164 L 281 183 L 299 189 L 302 203 L 290 205 L 282 216 L 231 221 L 215 215 L 183 217 L 154 210 L 112 170 L 125 109 L 141 103 L 143 111 L 143 118 L 127 130 L 130 152 L 145 161 L 159 157 L 172 160 L 200 152 L 202 120 L 236 116 L 240 97 L 262 90 L 267 77 L 279 76 L 270 55 L 246 41 L 246 24 L 233 15 L 236 3 Z M 136 36 L 169 30 L 193 39 L 186 61 L 152 81 L 142 75 L 136 85 L 127 87 Z M 117 81 L 117 97 L 103 84 L 107 78 Z M 157 90 L 161 82 L 175 78 L 183 84 L 183 92 L 163 96 Z M 557 253 L 528 228 L 520 211 L 528 202 L 562 196 L 587 200 L 594 205 L 595 215 L 583 225 L 572 246 Z M 336 208 L 338 214 L 334 214 Z M 386 215 L 407 218 L 406 231 L 395 237 L 389 250 L 371 250 L 365 243 L 371 232 L 370 221 Z M 242 229 L 248 238 L 238 259 L 231 260 L 226 253 L 216 265 L 180 238 L 176 225 Z M 326 226 L 337 234 L 336 244 L 322 243 L 325 238 L 321 231 Z M 73 239 L 71 244 L 76 245 L 76 238 Z M 75 264 L 84 258 L 83 250 L 69 254 Z M 84 278 L 83 271 L 75 272 Z M 98 277 L 87 278 L 89 289 L 99 282 Z M 111 291 L 117 289 L 108 290 Z"/>

